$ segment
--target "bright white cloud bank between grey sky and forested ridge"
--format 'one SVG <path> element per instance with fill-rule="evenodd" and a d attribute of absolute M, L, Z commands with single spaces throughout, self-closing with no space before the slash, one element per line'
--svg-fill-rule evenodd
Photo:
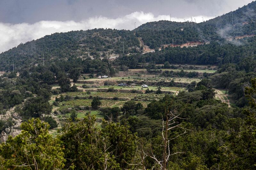
<path fill-rule="evenodd" d="M 202 21 L 201 16 L 196 18 L 196 22 Z M 204 21 L 213 17 L 204 16 Z M 146 22 L 170 20 L 169 15 L 154 16 L 152 13 L 133 12 L 120 18 L 107 17 L 93 17 L 80 22 L 75 21 L 40 21 L 34 24 L 21 23 L 9 24 L 0 22 L 0 52 L 13 48 L 20 43 L 39 39 L 45 35 L 56 32 L 68 32 L 72 30 L 87 30 L 93 28 L 116 28 L 116 29 L 134 29 L 134 22 L 136 27 Z M 190 20 L 190 16 L 186 21 Z M 183 22 L 184 18 L 172 18 L 172 21 Z"/>

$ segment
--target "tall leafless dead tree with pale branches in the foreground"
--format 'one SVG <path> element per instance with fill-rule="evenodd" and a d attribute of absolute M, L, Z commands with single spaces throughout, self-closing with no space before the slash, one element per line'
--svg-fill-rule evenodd
<path fill-rule="evenodd" d="M 183 112 L 183 110 L 179 113 L 177 112 L 176 109 L 173 109 L 173 104 L 174 104 L 174 98 L 170 103 L 165 103 L 165 110 L 164 110 L 164 115 L 162 116 L 162 120 L 163 120 L 163 129 L 162 129 L 162 138 L 163 138 L 163 145 L 161 145 L 162 147 L 164 147 L 164 151 L 163 151 L 163 159 L 162 160 L 158 160 L 156 158 L 156 155 L 153 153 L 153 150 L 151 148 L 151 151 L 148 152 L 148 155 L 150 158 L 154 159 L 157 164 L 160 165 L 161 170 L 166 170 L 167 169 L 167 163 L 168 160 L 170 159 L 170 156 L 178 154 L 178 153 L 183 153 L 183 152 L 175 152 L 175 153 L 170 153 L 170 141 L 173 139 L 176 139 L 177 137 L 180 137 L 181 135 L 186 133 L 186 128 L 181 127 L 181 124 L 178 122 L 178 120 L 184 119 L 179 117 L 180 114 Z M 178 133 L 177 135 L 175 135 L 172 138 L 168 137 L 168 132 L 170 132 L 171 130 L 175 129 L 175 128 L 180 128 L 183 129 L 184 132 L 183 133 Z"/>

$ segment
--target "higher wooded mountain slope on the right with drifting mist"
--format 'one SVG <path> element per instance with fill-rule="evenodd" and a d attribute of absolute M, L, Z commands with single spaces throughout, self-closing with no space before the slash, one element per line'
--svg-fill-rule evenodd
<path fill-rule="evenodd" d="M 256 33 L 256 2 L 236 11 L 218 16 L 206 22 L 149 22 L 137 28 L 136 35 L 150 48 L 164 44 L 182 44 L 188 41 L 217 41 L 230 36 L 251 35 Z M 233 19 L 232 19 L 233 16 Z M 198 22 L 198 21 L 197 21 Z"/>

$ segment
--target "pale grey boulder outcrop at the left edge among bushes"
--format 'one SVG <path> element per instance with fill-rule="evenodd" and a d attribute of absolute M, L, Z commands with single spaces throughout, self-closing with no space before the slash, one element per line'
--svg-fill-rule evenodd
<path fill-rule="evenodd" d="M 7 111 L 5 115 L 0 115 L 0 119 L 3 121 L 10 121 L 12 120 L 11 127 L 5 127 L 5 129 L 0 133 L 0 143 L 6 142 L 8 136 L 15 137 L 20 134 L 20 125 L 22 123 L 22 117 L 16 113 L 12 112 L 14 109 Z"/>

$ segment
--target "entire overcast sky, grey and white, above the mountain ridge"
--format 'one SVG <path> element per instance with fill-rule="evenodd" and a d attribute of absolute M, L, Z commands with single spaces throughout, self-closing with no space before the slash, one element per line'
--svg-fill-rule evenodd
<path fill-rule="evenodd" d="M 149 21 L 196 22 L 252 0 L 0 0 L 0 53 L 44 35 L 92 28 L 134 29 Z M 194 21 L 194 19 L 193 19 Z"/>

